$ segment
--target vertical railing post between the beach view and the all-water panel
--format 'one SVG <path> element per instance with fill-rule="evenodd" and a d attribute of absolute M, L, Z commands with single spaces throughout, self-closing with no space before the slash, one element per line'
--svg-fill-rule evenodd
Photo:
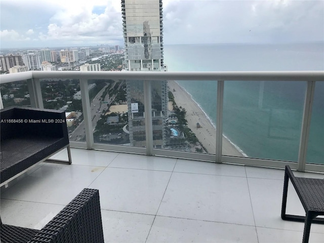
<path fill-rule="evenodd" d="M 217 81 L 216 162 L 222 163 L 224 80 Z"/>

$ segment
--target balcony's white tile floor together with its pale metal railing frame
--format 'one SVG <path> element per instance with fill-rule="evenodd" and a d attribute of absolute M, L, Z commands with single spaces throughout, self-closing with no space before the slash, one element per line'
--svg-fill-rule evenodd
<path fill-rule="evenodd" d="M 295 171 L 298 176 L 324 178 L 324 165 L 307 160 L 307 155 L 312 152 L 308 150 L 311 117 L 318 111 L 313 100 L 322 92 L 316 88 L 324 80 L 322 71 L 30 71 L 1 75 L 0 78 L 1 85 L 27 80 L 30 105 L 41 108 L 46 105 L 42 97 L 43 78 L 77 80 L 85 129 L 83 139 L 70 140 L 71 166 L 42 163 L 7 188 L 1 188 L 1 216 L 5 224 L 40 229 L 80 190 L 89 187 L 99 189 L 106 242 L 301 242 L 304 224 L 280 218 L 284 184 L 282 168 L 290 165 L 299 171 Z M 144 87 L 142 93 L 135 93 L 140 97 L 144 95 L 143 105 L 147 107 L 143 126 L 145 147 L 94 141 L 92 112 L 95 109 L 92 108 L 97 97 L 93 101 L 89 97 L 90 79 L 142 80 L 139 83 Z M 153 147 L 150 87 L 154 80 L 215 82 L 216 89 L 212 90 L 217 111 L 215 153 Z M 295 149 L 296 160 L 234 156 L 224 150 L 221 138 L 229 123 L 228 117 L 224 117 L 227 109 L 224 102 L 230 98 L 227 88 L 233 82 L 240 84 L 246 80 L 265 84 L 288 82 L 291 87 L 296 82 L 303 84 L 304 102 L 301 126 L 297 131 L 300 136 Z M 130 87 L 127 89 L 131 91 Z M 260 112 L 269 112 L 264 103 L 260 105 Z M 97 109 L 98 105 L 95 107 Z M 260 107 L 257 105 L 256 109 Z M 267 129 L 271 136 L 277 131 L 276 127 L 275 130 Z M 277 132 L 275 135 L 278 136 Z M 285 143 L 295 140 L 289 138 Z M 54 158 L 66 159 L 65 154 L 62 151 Z M 298 196 L 291 189 L 292 186 L 289 187 L 287 213 L 303 215 Z M 322 225 L 312 224 L 309 242 L 322 242 L 323 237 Z"/>

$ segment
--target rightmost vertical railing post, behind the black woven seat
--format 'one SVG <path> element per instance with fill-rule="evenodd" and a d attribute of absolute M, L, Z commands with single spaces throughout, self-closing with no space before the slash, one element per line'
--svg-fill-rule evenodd
<path fill-rule="evenodd" d="M 304 102 L 304 112 L 302 119 L 302 131 L 300 135 L 298 171 L 305 172 L 306 155 L 308 147 L 308 137 L 310 129 L 310 119 L 312 115 L 313 99 L 315 92 L 315 81 L 307 81 L 307 90 Z"/>

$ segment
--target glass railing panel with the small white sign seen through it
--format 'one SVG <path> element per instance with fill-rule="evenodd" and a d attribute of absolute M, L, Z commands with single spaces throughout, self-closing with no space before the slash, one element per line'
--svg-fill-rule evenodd
<path fill-rule="evenodd" d="M 98 87 L 90 99 L 95 143 L 145 147 L 143 81 L 107 79 L 90 83 Z"/>

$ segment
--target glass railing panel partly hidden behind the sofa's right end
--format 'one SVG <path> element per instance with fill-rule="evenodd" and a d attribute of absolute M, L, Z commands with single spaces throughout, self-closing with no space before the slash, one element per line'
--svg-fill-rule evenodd
<path fill-rule="evenodd" d="M 64 110 L 70 141 L 86 141 L 78 79 L 44 78 L 41 90 L 44 108 Z"/>

